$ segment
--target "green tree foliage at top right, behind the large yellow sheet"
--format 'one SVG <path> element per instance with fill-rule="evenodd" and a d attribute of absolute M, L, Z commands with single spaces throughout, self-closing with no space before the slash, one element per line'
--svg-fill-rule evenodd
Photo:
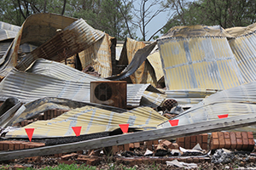
<path fill-rule="evenodd" d="M 248 26 L 256 20 L 256 1 L 198 0 L 185 3 L 179 12 L 168 21 L 162 33 L 166 33 L 172 26 L 219 25 L 224 29 Z"/>

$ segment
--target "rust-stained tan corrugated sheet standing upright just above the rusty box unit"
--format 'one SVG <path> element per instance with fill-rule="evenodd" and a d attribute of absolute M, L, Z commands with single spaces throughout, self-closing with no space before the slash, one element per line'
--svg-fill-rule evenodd
<path fill-rule="evenodd" d="M 83 69 L 91 65 L 101 77 L 110 77 L 112 75 L 112 61 L 111 61 L 111 41 L 108 34 L 79 53 Z"/>

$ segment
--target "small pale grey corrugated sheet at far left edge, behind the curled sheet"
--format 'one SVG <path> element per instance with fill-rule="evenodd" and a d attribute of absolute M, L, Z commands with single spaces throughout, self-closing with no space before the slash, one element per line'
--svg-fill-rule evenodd
<path fill-rule="evenodd" d="M 15 38 L 18 31 L 20 31 L 20 26 L 10 25 L 0 21 L 0 41 Z"/>

